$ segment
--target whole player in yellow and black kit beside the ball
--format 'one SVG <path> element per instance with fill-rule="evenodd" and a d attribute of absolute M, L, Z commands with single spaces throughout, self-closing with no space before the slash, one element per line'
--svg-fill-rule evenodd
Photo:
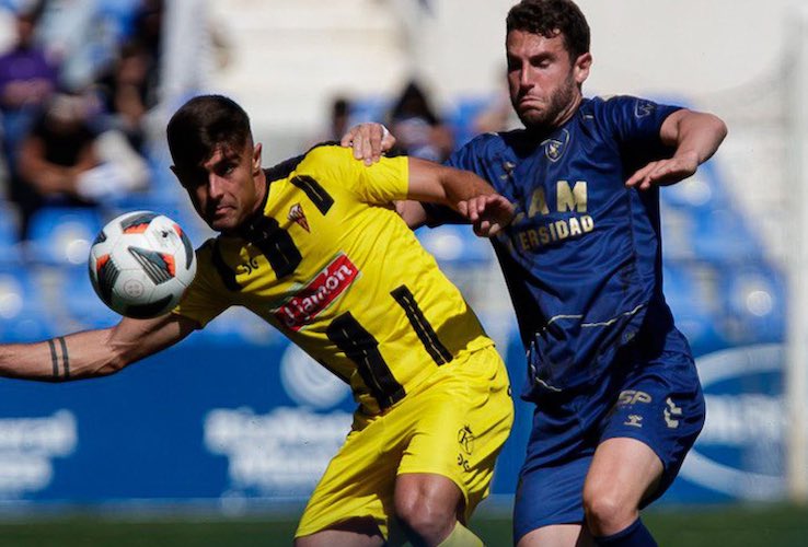
<path fill-rule="evenodd" d="M 168 138 L 172 171 L 219 232 L 197 251 L 180 305 L 0 346 L 0 374 L 109 374 L 244 306 L 348 383 L 358 403 L 296 545 L 482 545 L 463 524 L 510 431 L 507 372 L 394 201 L 449 205 L 488 234 L 509 222 L 510 203 L 469 172 L 405 156 L 368 166 L 337 144 L 264 170 L 246 113 L 219 95 L 183 105 Z M 56 365 L 68 360 L 69 377 Z"/>

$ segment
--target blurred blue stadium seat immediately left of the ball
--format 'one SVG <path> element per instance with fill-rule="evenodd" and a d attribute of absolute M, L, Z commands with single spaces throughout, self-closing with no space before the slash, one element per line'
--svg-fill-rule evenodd
<path fill-rule="evenodd" d="M 39 209 L 31 219 L 26 258 L 32 264 L 84 264 L 103 225 L 101 212 L 95 209 Z"/>

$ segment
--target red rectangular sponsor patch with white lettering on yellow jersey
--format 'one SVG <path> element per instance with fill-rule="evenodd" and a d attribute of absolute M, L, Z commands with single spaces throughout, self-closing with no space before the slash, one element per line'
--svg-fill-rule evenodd
<path fill-rule="evenodd" d="M 288 328 L 300 330 L 345 292 L 358 275 L 350 259 L 340 254 L 273 315 Z"/>

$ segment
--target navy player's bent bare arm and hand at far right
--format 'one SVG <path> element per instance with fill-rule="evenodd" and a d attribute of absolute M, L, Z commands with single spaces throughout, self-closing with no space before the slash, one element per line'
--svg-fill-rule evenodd
<path fill-rule="evenodd" d="M 727 126 L 712 114 L 681 109 L 666 118 L 659 136 L 662 143 L 676 148 L 673 155 L 638 170 L 626 181 L 627 187 L 645 190 L 651 185 L 674 184 L 693 175 L 718 150 L 727 136 Z"/>

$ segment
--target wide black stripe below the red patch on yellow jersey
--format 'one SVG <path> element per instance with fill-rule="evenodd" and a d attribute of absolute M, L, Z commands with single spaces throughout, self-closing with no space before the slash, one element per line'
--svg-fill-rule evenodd
<path fill-rule="evenodd" d="M 404 386 L 395 380 L 384 362 L 379 352 L 379 341 L 362 328 L 350 312 L 331 322 L 325 334 L 356 363 L 359 375 L 380 408 L 388 408 L 404 398 Z"/>

